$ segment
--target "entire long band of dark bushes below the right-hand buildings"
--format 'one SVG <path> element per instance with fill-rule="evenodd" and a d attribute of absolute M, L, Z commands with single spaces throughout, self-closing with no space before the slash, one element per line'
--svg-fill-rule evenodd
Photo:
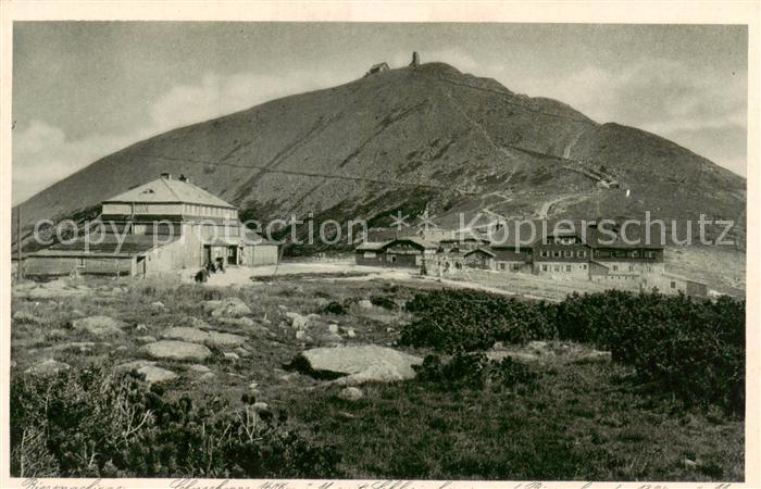
<path fill-rule="evenodd" d="M 437 290 L 407 303 L 414 321 L 400 342 L 444 352 L 482 351 L 495 341 L 562 339 L 610 350 L 643 384 L 690 405 L 745 409 L 745 301 L 609 290 L 560 304 L 474 290 Z"/>

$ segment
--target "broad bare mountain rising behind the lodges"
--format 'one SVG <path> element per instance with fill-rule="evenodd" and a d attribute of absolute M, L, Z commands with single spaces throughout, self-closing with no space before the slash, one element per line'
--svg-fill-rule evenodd
<path fill-rule="evenodd" d="M 23 203 L 28 224 L 97 214 L 162 172 L 238 205 L 374 226 L 425 209 L 440 225 L 479 215 L 736 220 L 746 180 L 666 139 L 599 124 L 442 63 L 383 71 L 137 142 Z M 610 188 L 604 188 L 610 187 Z M 628 195 L 628 197 L 627 197 Z M 316 227 L 316 226 L 315 226 Z"/>

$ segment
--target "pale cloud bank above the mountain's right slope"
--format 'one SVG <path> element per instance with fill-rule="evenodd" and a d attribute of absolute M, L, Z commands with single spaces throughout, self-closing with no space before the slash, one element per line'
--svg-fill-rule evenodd
<path fill-rule="evenodd" d="M 747 87 L 745 77 L 726 79 L 710 71 L 696 77 L 682 62 L 653 59 L 621 71 L 586 66 L 560 80 L 537 78 L 532 95 L 566 102 L 600 123 L 658 134 L 745 175 Z"/>

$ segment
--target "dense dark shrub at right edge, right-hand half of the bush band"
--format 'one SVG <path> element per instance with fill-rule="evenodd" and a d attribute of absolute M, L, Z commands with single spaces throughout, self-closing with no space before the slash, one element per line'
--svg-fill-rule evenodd
<path fill-rule="evenodd" d="M 609 349 L 640 380 L 694 405 L 745 409 L 745 301 L 621 291 L 570 296 L 562 339 Z"/>

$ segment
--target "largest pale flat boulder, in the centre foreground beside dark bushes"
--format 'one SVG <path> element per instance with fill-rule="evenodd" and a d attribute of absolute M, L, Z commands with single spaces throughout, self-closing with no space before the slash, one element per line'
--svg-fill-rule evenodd
<path fill-rule="evenodd" d="M 297 358 L 295 364 L 315 376 L 344 377 L 338 384 L 392 381 L 414 378 L 412 365 L 423 359 L 374 344 L 363 347 L 315 348 Z"/>

